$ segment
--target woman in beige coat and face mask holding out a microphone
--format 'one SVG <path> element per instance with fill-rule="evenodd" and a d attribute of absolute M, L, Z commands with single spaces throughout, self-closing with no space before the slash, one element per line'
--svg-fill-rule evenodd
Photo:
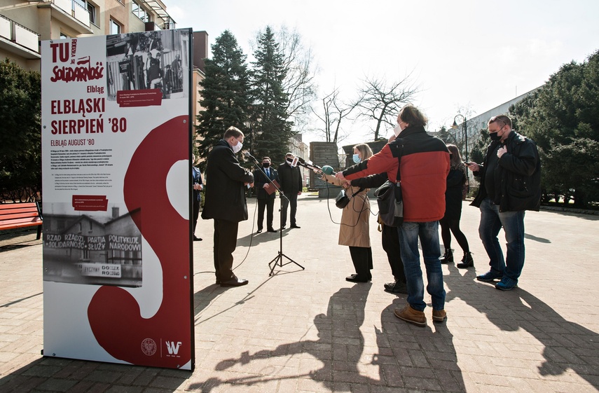
<path fill-rule="evenodd" d="M 354 146 L 354 163 L 368 160 L 372 150 L 367 144 Z M 347 181 L 340 181 L 334 176 L 324 174 L 324 179 L 336 186 L 345 188 L 345 194 L 350 198 L 350 203 L 343 208 L 341 225 L 339 227 L 339 245 L 349 246 L 355 274 L 345 277 L 350 282 L 369 282 L 372 278 L 372 249 L 370 247 L 369 220 L 370 202 L 366 193 L 368 188 L 359 191 L 358 187 L 351 186 Z M 354 193 L 357 193 L 354 195 Z M 352 197 L 352 195 L 354 195 Z"/>

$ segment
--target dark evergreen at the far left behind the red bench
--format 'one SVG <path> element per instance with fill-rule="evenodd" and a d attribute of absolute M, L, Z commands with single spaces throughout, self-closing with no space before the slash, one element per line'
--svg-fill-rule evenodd
<path fill-rule="evenodd" d="M 0 202 L 41 193 L 41 76 L 0 62 Z"/>

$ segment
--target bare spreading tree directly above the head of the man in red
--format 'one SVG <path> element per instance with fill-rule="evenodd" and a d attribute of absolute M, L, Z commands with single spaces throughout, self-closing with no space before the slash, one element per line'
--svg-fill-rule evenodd
<path fill-rule="evenodd" d="M 357 117 L 376 121 L 373 127 L 374 140 L 379 139 L 380 128 L 383 125 L 395 127 L 400 106 L 411 102 L 418 94 L 418 87 L 414 86 L 409 78 L 408 75 L 390 85 L 387 85 L 385 78 L 366 77 L 362 81 L 356 101 L 360 109 Z"/>

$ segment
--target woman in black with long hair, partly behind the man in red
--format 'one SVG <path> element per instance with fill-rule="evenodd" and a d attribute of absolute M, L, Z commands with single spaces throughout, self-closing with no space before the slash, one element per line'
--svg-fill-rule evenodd
<path fill-rule="evenodd" d="M 474 266 L 474 259 L 470 254 L 470 247 L 466 235 L 460 230 L 460 218 L 462 217 L 462 189 L 466 184 L 466 165 L 462 162 L 462 156 L 457 146 L 448 144 L 450 157 L 450 170 L 447 175 L 447 188 L 445 191 L 445 215 L 439 220 L 441 226 L 441 240 L 445 247 L 445 254 L 441 258 L 441 263 L 453 262 L 453 251 L 451 251 L 451 233 L 455 237 L 457 244 L 460 244 L 464 256 L 458 268 L 469 268 Z M 450 233 L 451 232 L 451 233 Z"/>

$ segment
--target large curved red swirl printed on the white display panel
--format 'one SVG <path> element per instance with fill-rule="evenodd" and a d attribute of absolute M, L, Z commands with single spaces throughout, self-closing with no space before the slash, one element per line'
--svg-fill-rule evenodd
<path fill-rule="evenodd" d="M 179 116 L 151 130 L 137 147 L 125 174 L 125 204 L 129 212 L 140 209 L 132 219 L 163 270 L 163 301 L 158 312 L 143 318 L 135 298 L 119 287 L 100 287 L 88 307 L 99 345 L 116 359 L 142 366 L 178 368 L 191 359 L 189 221 L 172 207 L 166 189 L 172 165 L 188 159 L 185 120 L 188 116 Z M 186 195 L 185 191 L 181 194 Z M 141 349 L 147 339 L 158 345 L 152 356 Z"/>

